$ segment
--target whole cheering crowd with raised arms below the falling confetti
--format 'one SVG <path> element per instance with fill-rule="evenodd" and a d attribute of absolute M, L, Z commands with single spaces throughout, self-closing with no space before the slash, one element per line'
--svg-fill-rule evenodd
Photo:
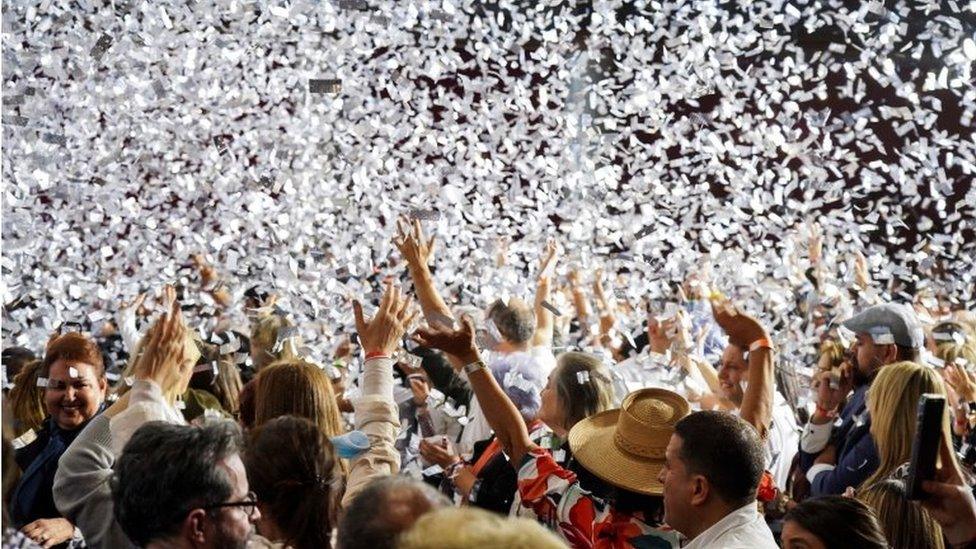
<path fill-rule="evenodd" d="M 794 318 L 749 314 L 705 272 L 630 304 L 556 242 L 534 297 L 478 310 L 439 290 L 419 221 L 394 244 L 407 273 L 351 296 L 333 356 L 303 356 L 258 291 L 249 333 L 201 337 L 171 286 L 5 348 L 3 546 L 976 546 L 972 311 L 886 299 L 863 258 L 826 295 L 816 234 Z M 226 302 L 219 265 L 195 262 Z M 773 327 L 798 324 L 812 342 L 781 356 L 801 332 Z M 917 499 L 926 394 L 947 404 Z"/>

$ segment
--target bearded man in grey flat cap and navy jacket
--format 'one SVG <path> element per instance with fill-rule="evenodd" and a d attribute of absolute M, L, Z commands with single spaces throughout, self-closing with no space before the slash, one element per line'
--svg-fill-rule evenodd
<path fill-rule="evenodd" d="M 824 372 L 816 380 L 817 408 L 800 437 L 800 468 L 813 496 L 857 488 L 877 469 L 868 388 L 883 366 L 917 362 L 925 342 L 914 311 L 896 303 L 869 307 L 843 325 L 856 339 L 840 375 Z"/>

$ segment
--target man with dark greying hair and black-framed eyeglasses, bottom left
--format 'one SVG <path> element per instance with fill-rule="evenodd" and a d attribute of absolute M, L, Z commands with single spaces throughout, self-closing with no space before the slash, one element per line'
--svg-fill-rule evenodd
<path fill-rule="evenodd" d="M 240 429 L 147 423 L 115 465 L 115 518 L 139 547 L 243 549 L 261 518 L 241 461 Z"/>

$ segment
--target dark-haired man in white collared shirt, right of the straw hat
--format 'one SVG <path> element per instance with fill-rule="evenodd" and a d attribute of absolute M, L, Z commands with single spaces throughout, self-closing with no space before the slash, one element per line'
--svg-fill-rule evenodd
<path fill-rule="evenodd" d="M 736 415 L 695 412 L 675 425 L 658 480 L 685 549 L 777 547 L 756 504 L 763 465 L 759 434 Z"/>

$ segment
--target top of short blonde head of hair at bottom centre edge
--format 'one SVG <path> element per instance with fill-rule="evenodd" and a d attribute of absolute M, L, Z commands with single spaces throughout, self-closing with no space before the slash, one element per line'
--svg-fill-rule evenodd
<path fill-rule="evenodd" d="M 474 507 L 426 513 L 404 532 L 397 549 L 563 549 L 555 534 L 534 520 L 503 517 Z"/>

